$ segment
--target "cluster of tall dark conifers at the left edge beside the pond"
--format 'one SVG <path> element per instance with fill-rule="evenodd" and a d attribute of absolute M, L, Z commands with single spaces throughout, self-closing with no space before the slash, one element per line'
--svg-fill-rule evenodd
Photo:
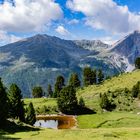
<path fill-rule="evenodd" d="M 17 119 L 33 125 L 36 121 L 33 104 L 24 106 L 21 90 L 16 84 L 7 89 L 0 78 L 0 127 L 6 124 L 7 118 Z"/>

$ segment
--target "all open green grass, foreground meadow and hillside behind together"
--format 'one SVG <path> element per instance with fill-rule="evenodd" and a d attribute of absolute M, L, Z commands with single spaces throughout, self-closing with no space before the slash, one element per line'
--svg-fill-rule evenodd
<path fill-rule="evenodd" d="M 129 88 L 140 81 L 140 71 L 123 74 L 105 81 L 100 86 L 89 86 L 77 92 L 78 97 L 83 96 L 86 105 L 98 109 L 97 95 L 108 90 L 114 91 L 120 88 Z M 35 108 L 56 106 L 54 99 L 25 99 L 25 103 L 33 102 Z M 139 101 L 136 101 L 139 104 Z M 140 138 L 140 116 L 130 112 L 106 112 L 103 114 L 81 115 L 77 117 L 78 127 L 73 130 L 51 130 L 16 132 L 2 136 L 10 138 L 21 138 L 23 140 L 139 140 Z M 83 129 L 84 128 L 84 129 Z M 1 137 L 0 137 L 1 138 Z"/>

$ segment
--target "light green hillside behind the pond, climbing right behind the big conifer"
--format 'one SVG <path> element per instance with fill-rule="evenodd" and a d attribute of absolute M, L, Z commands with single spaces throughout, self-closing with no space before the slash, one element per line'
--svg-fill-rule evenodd
<path fill-rule="evenodd" d="M 99 107 L 99 93 L 104 93 L 107 91 L 116 91 L 117 89 L 128 88 L 131 90 L 133 85 L 140 81 L 140 70 L 133 71 L 131 73 L 123 73 L 119 76 L 113 77 L 106 80 L 101 85 L 92 85 L 88 87 L 81 88 L 77 91 L 77 97 L 81 96 L 84 98 L 86 106 L 91 109 L 95 109 L 100 112 Z M 123 100 L 123 98 L 122 98 Z M 56 99 L 47 98 L 36 98 L 36 99 L 24 99 L 25 104 L 28 105 L 29 102 L 34 104 L 37 114 L 57 114 L 58 108 Z M 131 107 L 135 108 L 135 111 L 140 111 L 139 101 L 135 100 Z M 46 112 L 46 113 L 45 113 Z"/>

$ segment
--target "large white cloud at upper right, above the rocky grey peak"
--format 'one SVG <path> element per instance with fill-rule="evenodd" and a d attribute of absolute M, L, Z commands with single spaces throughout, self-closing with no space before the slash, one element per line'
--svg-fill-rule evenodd
<path fill-rule="evenodd" d="M 112 33 L 140 29 L 140 15 L 113 0 L 68 0 L 67 7 L 86 16 L 86 25 Z"/>

